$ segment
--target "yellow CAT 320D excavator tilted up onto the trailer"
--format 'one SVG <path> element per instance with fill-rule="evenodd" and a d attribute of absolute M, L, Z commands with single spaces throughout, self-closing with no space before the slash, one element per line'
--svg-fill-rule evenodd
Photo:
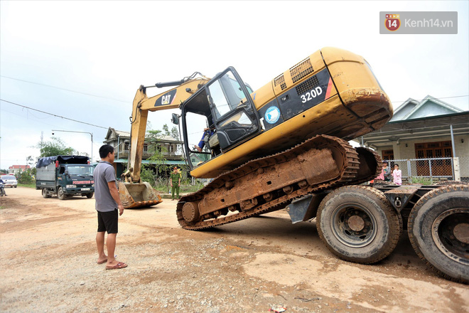
<path fill-rule="evenodd" d="M 173 88 L 154 97 L 147 97 L 149 87 L 137 90 L 129 166 L 119 192 L 126 208 L 161 202 L 140 180 L 146 121 L 149 111 L 180 108 L 173 123 L 182 127 L 190 175 L 213 179 L 178 202 L 178 220 L 188 229 L 256 216 L 301 196 L 372 179 L 379 157 L 347 140 L 392 117 L 367 61 L 338 48 L 313 53 L 254 91 L 232 67 L 211 79 L 194 73 L 150 87 Z M 205 125 L 199 135 L 208 129 L 202 151 L 189 144 L 196 120 Z"/>

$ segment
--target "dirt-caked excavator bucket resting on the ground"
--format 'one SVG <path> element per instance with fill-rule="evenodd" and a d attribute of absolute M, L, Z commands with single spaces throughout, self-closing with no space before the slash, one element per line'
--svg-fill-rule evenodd
<path fill-rule="evenodd" d="M 163 202 L 149 183 L 131 184 L 119 182 L 119 197 L 124 208 L 142 208 Z"/>

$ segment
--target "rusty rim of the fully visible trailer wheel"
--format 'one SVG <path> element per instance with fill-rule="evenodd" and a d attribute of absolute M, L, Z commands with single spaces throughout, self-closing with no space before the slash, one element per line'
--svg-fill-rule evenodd
<path fill-rule="evenodd" d="M 341 243 L 351 248 L 369 245 L 376 237 L 376 219 L 359 203 L 344 203 L 330 216 L 333 234 Z"/>

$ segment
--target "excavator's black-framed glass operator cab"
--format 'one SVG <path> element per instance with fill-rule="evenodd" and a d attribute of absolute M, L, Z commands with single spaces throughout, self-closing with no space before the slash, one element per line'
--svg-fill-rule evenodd
<path fill-rule="evenodd" d="M 230 67 L 212 78 L 181 106 L 184 148 L 191 169 L 223 154 L 261 130 L 259 116 L 249 92 L 234 68 Z M 207 148 L 195 152 L 190 148 L 188 134 L 195 131 L 194 120 L 205 120 L 207 130 L 202 140 Z M 188 125 L 191 129 L 188 129 Z M 204 147 L 204 148 L 205 148 Z"/>

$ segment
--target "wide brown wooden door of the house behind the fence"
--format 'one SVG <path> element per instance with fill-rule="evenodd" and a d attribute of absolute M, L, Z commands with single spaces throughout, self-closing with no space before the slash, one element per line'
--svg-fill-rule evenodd
<path fill-rule="evenodd" d="M 426 142 L 415 144 L 415 157 L 417 159 L 433 159 L 453 157 L 451 141 L 448 142 Z M 431 162 L 431 163 L 430 163 Z M 451 159 L 446 160 L 422 160 L 417 161 L 418 176 L 451 176 Z"/>

